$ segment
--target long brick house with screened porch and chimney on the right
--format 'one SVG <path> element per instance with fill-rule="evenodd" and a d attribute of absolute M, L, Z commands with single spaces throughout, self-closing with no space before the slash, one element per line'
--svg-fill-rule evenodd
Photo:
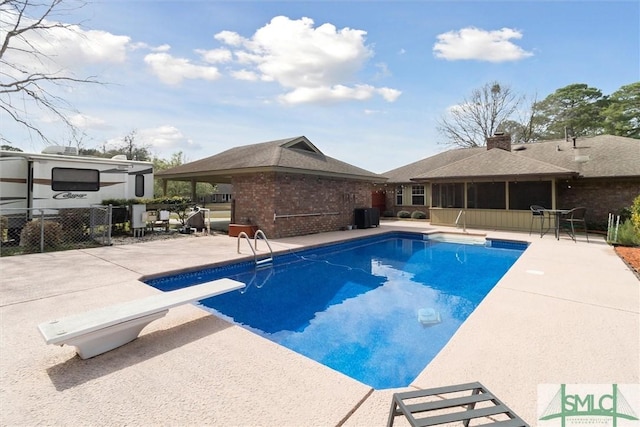
<path fill-rule="evenodd" d="M 453 149 L 383 173 L 385 209 L 425 212 L 433 224 L 522 230 L 530 205 L 587 208 L 591 228 L 603 228 L 640 195 L 640 141 L 611 135 L 511 144 L 509 135 L 485 147 Z M 374 187 L 375 188 L 375 187 Z"/>

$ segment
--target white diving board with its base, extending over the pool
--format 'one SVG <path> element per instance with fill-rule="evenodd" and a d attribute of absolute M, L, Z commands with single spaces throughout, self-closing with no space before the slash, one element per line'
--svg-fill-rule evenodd
<path fill-rule="evenodd" d="M 88 359 L 133 341 L 170 308 L 244 287 L 232 279 L 214 280 L 41 323 L 38 329 L 47 344 L 75 346 Z"/>

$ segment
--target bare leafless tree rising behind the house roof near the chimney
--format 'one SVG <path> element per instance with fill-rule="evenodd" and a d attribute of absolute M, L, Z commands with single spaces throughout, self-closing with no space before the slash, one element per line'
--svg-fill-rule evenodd
<path fill-rule="evenodd" d="M 453 108 L 438 122 L 438 130 L 447 144 L 478 147 L 499 130 L 518 109 L 523 96 L 498 82 L 475 89 L 469 98 Z"/>

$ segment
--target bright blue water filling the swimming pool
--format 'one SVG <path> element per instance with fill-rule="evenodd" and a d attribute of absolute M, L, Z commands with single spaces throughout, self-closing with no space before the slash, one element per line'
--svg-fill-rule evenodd
<path fill-rule="evenodd" d="M 222 277 L 246 283 L 201 304 L 385 389 L 411 383 L 525 248 L 392 233 L 279 255 L 264 269 L 243 262 L 147 283 L 164 291 Z"/>

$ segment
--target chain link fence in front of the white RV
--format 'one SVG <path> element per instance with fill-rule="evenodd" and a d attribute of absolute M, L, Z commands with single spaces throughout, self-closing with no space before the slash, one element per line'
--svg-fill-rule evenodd
<path fill-rule="evenodd" d="M 112 209 L 0 208 L 0 256 L 111 245 Z"/>

